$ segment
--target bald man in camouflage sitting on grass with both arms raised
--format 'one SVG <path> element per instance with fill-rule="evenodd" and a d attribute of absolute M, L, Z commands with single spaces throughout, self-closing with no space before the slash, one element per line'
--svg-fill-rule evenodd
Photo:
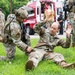
<path fill-rule="evenodd" d="M 43 27 L 44 22 L 35 25 L 35 32 L 40 35 L 40 40 L 38 44 L 34 47 L 34 51 L 29 54 L 28 61 L 26 63 L 26 70 L 31 70 L 37 67 L 38 63 L 44 59 L 53 60 L 55 63 L 59 64 L 63 68 L 73 68 L 75 63 L 68 64 L 62 54 L 55 53 L 54 48 L 56 46 L 62 46 L 63 48 L 68 48 L 70 46 L 70 33 L 71 29 L 66 31 L 66 41 L 58 38 L 57 32 L 59 31 L 58 22 L 52 23 L 50 31 L 47 32 Z"/>

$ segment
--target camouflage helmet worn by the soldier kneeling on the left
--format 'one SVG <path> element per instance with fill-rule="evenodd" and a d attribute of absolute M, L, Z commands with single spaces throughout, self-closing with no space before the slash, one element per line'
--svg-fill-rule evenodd
<path fill-rule="evenodd" d="M 17 17 L 21 17 L 23 19 L 26 19 L 28 17 L 28 12 L 23 7 L 21 7 L 19 9 L 15 10 L 15 15 Z"/>

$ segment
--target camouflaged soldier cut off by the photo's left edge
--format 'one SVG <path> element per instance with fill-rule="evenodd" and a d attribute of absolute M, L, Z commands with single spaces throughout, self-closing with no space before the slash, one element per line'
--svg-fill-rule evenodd
<path fill-rule="evenodd" d="M 5 15 L 2 13 L 2 9 L 0 8 L 0 41 L 3 40 L 4 36 L 4 23 Z"/>

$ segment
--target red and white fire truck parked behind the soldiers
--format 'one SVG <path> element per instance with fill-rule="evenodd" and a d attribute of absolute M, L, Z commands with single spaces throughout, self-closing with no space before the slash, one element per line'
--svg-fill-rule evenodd
<path fill-rule="evenodd" d="M 45 3 L 50 3 L 52 10 L 56 12 L 55 9 L 55 2 L 52 0 L 36 0 L 32 1 L 24 6 L 24 8 L 28 11 L 28 18 L 24 20 L 24 25 L 27 27 L 27 32 L 30 35 L 33 35 L 34 32 L 34 25 L 42 20 L 44 20 L 44 7 Z M 54 21 L 56 21 L 56 16 L 54 14 Z"/>

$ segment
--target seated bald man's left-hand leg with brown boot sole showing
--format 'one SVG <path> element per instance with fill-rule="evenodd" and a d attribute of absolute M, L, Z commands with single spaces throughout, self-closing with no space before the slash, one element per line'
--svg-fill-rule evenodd
<path fill-rule="evenodd" d="M 31 70 L 37 67 L 38 63 L 42 60 L 45 52 L 44 51 L 35 51 L 29 54 L 28 61 L 26 63 L 26 70 Z"/>

